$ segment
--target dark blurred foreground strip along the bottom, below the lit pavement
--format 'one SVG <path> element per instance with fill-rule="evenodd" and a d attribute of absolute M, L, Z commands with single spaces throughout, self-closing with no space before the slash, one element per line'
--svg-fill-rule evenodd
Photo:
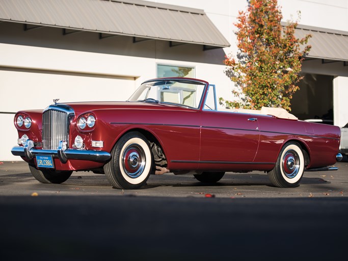
<path fill-rule="evenodd" d="M 341 260 L 348 198 L 1 196 L 2 260 Z"/>

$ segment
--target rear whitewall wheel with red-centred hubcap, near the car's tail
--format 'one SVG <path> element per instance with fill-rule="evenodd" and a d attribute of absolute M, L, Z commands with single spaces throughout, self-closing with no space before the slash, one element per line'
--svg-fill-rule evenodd
<path fill-rule="evenodd" d="M 289 142 L 280 151 L 276 166 L 268 172 L 272 184 L 278 188 L 293 188 L 300 184 L 305 167 L 301 146 Z"/>

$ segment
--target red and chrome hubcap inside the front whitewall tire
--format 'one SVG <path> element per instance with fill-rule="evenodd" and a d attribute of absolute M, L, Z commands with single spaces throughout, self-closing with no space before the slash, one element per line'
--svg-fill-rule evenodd
<path fill-rule="evenodd" d="M 122 155 L 122 167 L 127 176 L 139 177 L 145 169 L 145 152 L 138 144 L 128 145 Z"/>

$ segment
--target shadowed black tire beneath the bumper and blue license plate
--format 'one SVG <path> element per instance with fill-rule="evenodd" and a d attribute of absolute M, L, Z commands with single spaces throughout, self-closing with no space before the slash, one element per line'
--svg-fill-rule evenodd
<path fill-rule="evenodd" d="M 39 170 L 29 165 L 30 172 L 41 183 L 61 184 L 66 181 L 72 174 L 72 171 L 61 170 Z"/>

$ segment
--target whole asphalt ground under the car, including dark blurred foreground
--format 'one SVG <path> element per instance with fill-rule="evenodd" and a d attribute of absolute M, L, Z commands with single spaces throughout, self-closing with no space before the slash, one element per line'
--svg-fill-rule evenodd
<path fill-rule="evenodd" d="M 341 260 L 348 232 L 348 162 L 306 172 L 292 189 L 266 174 L 216 185 L 151 176 L 140 190 L 74 172 L 40 184 L 23 162 L 0 164 L 2 260 Z"/>

